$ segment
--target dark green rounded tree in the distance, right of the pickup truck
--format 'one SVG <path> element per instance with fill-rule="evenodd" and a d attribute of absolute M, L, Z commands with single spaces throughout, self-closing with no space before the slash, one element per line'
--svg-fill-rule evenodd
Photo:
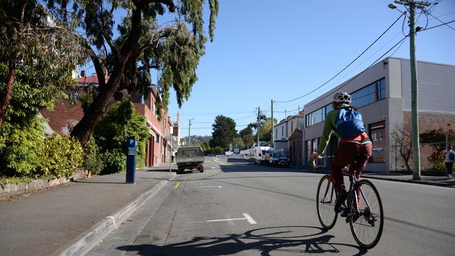
<path fill-rule="evenodd" d="M 210 140 L 211 148 L 221 146 L 221 148 L 228 148 L 229 143 L 235 138 L 237 130 L 235 129 L 235 121 L 232 118 L 225 117 L 224 115 L 217 115 L 215 123 L 212 125 L 214 131 L 211 133 L 212 139 Z"/>

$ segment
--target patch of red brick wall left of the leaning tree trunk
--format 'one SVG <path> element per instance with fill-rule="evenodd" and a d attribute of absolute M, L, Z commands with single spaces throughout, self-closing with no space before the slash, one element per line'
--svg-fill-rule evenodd
<path fill-rule="evenodd" d="M 69 107 L 69 102 L 55 102 L 54 110 L 41 110 L 41 115 L 49 120 L 50 127 L 59 134 L 62 134 L 62 128 L 68 125 L 68 122 L 76 120 L 79 122 L 83 116 L 83 109 L 80 101 L 76 105 Z"/>

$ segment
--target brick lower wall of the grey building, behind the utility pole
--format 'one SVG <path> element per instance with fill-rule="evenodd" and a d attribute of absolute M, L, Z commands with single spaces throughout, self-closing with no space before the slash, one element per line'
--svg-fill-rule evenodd
<path fill-rule="evenodd" d="M 403 113 L 404 125 L 411 127 L 411 112 L 405 111 Z M 450 126 L 448 126 L 448 124 Z M 433 129 L 455 129 L 455 115 L 437 114 L 437 113 L 419 113 L 419 133 L 431 131 Z M 440 141 L 435 141 L 440 142 Z M 431 153 L 434 150 L 428 145 L 423 145 L 420 148 L 420 164 L 421 169 L 428 169 L 432 164 L 428 161 Z M 409 161 L 412 167 L 412 159 Z"/>

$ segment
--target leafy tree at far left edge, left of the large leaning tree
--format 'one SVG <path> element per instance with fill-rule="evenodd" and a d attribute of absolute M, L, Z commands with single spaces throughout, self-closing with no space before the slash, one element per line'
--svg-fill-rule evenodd
<path fill-rule="evenodd" d="M 73 85 L 71 73 L 81 59 L 78 37 L 45 6 L 0 0 L 0 127 L 8 112 L 36 115 L 38 108 L 52 108 Z M 15 94 L 20 109 L 8 111 Z"/>

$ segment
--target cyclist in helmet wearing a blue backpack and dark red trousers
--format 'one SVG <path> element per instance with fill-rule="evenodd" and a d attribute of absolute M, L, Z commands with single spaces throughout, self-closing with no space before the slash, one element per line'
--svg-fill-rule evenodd
<path fill-rule="evenodd" d="M 356 166 L 350 166 L 356 170 L 356 178 L 360 178 L 360 172 L 365 169 L 367 159 L 372 155 L 372 144 L 365 133 L 362 115 L 356 112 L 357 108 L 351 105 L 351 95 L 346 92 L 337 92 L 333 95 L 333 110 L 327 113 L 321 143 L 317 152 L 311 155 L 311 160 L 318 159 L 324 152 L 330 141 L 332 131 L 339 138 L 339 147 L 331 162 L 330 173 L 335 181 L 335 188 L 338 192 L 335 202 L 335 211 L 343 211 L 342 204 L 347 198 L 344 187 L 342 169 L 353 163 L 356 159 Z"/>

